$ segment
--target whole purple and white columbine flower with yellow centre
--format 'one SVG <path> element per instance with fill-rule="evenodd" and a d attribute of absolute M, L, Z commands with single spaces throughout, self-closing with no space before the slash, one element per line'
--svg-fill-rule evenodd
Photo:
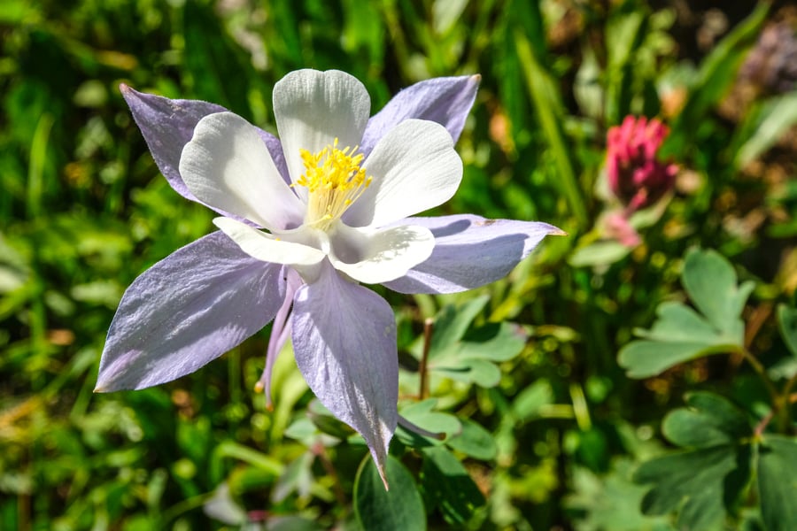
<path fill-rule="evenodd" d="M 174 380 L 275 319 L 259 387 L 270 396 L 271 367 L 291 335 L 310 389 L 365 438 L 384 480 L 399 420 L 396 327 L 391 306 L 360 282 L 402 293 L 472 289 L 561 234 L 471 215 L 407 218 L 459 186 L 453 139 L 477 84 L 423 81 L 368 119 L 368 93 L 352 76 L 290 73 L 274 89 L 280 140 L 217 105 L 122 86 L 161 172 L 221 213 L 221 231 L 128 288 L 97 390 Z"/>

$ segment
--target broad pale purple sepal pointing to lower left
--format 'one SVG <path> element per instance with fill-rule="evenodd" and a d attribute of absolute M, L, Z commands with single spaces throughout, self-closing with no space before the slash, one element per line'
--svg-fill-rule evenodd
<path fill-rule="evenodd" d="M 143 389 L 193 373 L 273 319 L 282 266 L 215 232 L 174 251 L 122 296 L 100 360 L 97 391 Z"/>

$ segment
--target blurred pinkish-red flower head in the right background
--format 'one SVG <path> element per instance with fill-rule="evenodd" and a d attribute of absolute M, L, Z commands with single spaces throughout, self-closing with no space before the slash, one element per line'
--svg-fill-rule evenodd
<path fill-rule="evenodd" d="M 607 134 L 606 171 L 609 188 L 626 205 L 627 213 L 654 204 L 675 184 L 677 165 L 656 159 L 669 134 L 657 119 L 626 116 Z"/>

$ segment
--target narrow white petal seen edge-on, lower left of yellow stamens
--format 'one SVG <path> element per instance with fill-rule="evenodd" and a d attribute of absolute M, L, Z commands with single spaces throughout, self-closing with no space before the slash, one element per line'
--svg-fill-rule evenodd
<path fill-rule="evenodd" d="M 254 227 L 230 218 L 213 219 L 213 225 L 238 244 L 246 254 L 265 262 L 289 266 L 313 266 L 326 256 L 303 243 L 284 242 Z"/>

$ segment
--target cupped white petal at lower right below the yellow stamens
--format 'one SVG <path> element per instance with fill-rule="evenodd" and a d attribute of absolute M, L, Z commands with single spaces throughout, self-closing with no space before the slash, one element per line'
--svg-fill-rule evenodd
<path fill-rule="evenodd" d="M 369 230 L 339 224 L 330 235 L 329 260 L 338 271 L 367 284 L 380 284 L 404 276 L 429 258 L 435 237 L 426 227 L 392 227 Z"/>

